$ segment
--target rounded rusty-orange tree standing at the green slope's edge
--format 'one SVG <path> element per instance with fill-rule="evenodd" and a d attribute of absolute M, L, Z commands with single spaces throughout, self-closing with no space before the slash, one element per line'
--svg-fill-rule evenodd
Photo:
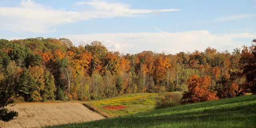
<path fill-rule="evenodd" d="M 197 77 L 192 75 L 188 81 L 188 91 L 185 91 L 182 96 L 183 103 L 204 102 L 217 100 L 216 92 L 210 90 L 211 78 L 209 76 Z"/>

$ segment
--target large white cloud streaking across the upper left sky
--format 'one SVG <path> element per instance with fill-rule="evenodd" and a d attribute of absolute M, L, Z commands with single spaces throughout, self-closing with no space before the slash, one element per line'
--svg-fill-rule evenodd
<path fill-rule="evenodd" d="M 32 0 L 22 0 L 18 7 L 0 7 L 0 29 L 13 32 L 52 32 L 55 25 L 75 23 L 92 18 L 135 17 L 154 11 L 171 12 L 177 9 L 146 10 L 130 9 L 128 4 L 102 1 L 77 2 L 77 6 L 91 6 L 92 10 L 66 11 L 37 4 Z"/>

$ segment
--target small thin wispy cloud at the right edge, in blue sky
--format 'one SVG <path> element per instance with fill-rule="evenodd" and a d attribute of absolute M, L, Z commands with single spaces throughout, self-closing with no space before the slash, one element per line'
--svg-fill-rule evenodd
<path fill-rule="evenodd" d="M 217 19 L 215 19 L 215 21 L 226 22 L 226 21 L 231 21 L 231 20 L 251 18 L 254 16 L 256 16 L 256 14 L 241 14 L 241 15 L 236 15 L 236 16 L 227 16 L 227 17 L 223 17 L 223 18 L 217 18 Z"/>

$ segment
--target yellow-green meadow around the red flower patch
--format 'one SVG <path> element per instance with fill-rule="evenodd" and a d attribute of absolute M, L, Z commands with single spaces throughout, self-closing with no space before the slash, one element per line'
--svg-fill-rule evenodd
<path fill-rule="evenodd" d="M 84 102 L 84 106 L 106 116 L 120 116 L 153 110 L 156 93 L 127 94 L 115 98 Z M 123 109 L 104 109 L 104 106 L 124 106 Z"/>

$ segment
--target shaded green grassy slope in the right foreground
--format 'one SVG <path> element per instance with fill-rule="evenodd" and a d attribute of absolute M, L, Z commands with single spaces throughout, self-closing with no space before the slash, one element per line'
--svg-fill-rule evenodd
<path fill-rule="evenodd" d="M 255 128 L 256 95 L 47 128 Z"/>

